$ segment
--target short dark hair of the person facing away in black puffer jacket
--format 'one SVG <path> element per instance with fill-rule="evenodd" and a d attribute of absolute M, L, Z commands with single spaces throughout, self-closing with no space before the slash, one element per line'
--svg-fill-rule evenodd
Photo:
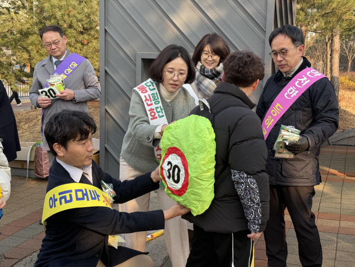
<path fill-rule="evenodd" d="M 224 81 L 248 87 L 264 78 L 264 60 L 249 51 L 235 51 L 223 63 Z"/>

